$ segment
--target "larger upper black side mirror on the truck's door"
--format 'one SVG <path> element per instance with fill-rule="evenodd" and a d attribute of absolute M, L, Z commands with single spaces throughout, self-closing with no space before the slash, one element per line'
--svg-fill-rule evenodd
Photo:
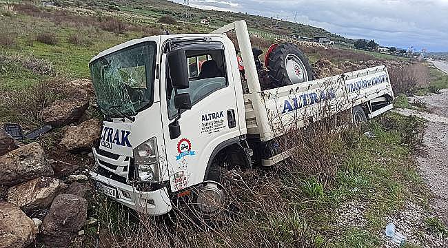
<path fill-rule="evenodd" d="M 185 50 L 177 49 L 168 53 L 171 84 L 174 89 L 182 90 L 190 87 L 188 82 L 188 65 Z"/>

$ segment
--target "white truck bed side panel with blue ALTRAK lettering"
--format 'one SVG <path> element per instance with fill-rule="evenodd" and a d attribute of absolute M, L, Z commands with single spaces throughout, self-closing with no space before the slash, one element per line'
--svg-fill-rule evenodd
<path fill-rule="evenodd" d="M 377 66 L 325 79 L 287 85 L 244 95 L 247 134 L 258 134 L 262 141 L 281 136 L 288 127 L 303 127 L 309 121 L 349 110 L 370 101 L 383 101 L 380 110 L 367 112 L 369 117 L 391 109 L 393 99 L 387 68 Z M 256 112 L 254 101 L 264 105 Z"/>

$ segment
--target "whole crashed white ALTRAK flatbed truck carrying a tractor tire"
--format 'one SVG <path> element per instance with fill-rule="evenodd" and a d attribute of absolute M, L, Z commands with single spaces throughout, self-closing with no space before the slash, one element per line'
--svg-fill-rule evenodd
<path fill-rule="evenodd" d="M 241 59 L 225 35 L 230 31 Z M 94 56 L 90 72 L 106 121 L 93 148 L 92 180 L 136 211 L 162 215 L 188 197 L 210 216 L 225 204 L 222 171 L 289 156 L 266 149 L 285 126 L 317 121 L 323 104 L 332 114 L 352 110 L 356 121 L 392 108 L 385 66 L 310 81 L 309 64 L 296 51 L 269 48 L 266 63 L 281 63 L 267 66 L 270 90 L 261 88 L 245 21 L 210 34 L 134 39 Z"/>

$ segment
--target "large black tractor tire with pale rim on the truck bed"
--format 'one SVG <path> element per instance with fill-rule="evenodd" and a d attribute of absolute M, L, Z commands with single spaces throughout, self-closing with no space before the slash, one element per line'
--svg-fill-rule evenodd
<path fill-rule="evenodd" d="M 308 59 L 292 43 L 278 45 L 269 54 L 269 79 L 274 87 L 313 80 L 313 72 Z"/>

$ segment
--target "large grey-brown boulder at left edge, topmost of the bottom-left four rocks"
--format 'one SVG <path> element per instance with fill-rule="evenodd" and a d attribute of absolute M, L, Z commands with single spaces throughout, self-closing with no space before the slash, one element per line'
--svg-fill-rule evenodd
<path fill-rule="evenodd" d="M 17 185 L 39 176 L 53 176 L 53 169 L 38 143 L 30 143 L 0 156 L 0 183 Z"/>

